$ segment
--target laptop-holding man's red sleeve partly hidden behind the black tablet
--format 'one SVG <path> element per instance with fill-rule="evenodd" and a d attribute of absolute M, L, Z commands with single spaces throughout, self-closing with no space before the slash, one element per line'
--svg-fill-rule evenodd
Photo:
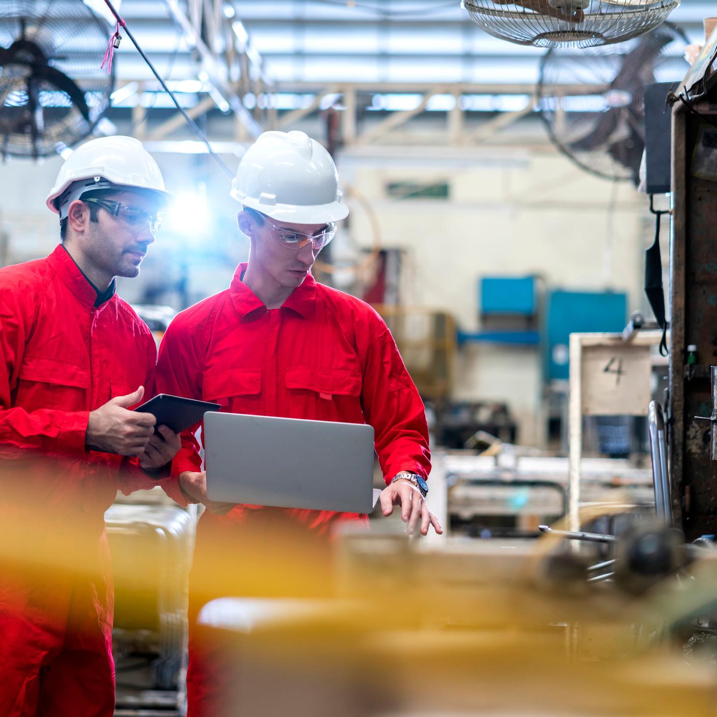
<path fill-rule="evenodd" d="M 191 337 L 181 323 L 171 323 L 162 338 L 157 361 L 156 392 L 201 400 L 201 368 L 193 351 Z M 171 477 L 161 482 L 164 492 L 179 505 L 187 505 L 179 490 L 179 474 L 201 471 L 199 443 L 194 433 L 199 425 L 181 434 L 181 449 L 172 461 Z"/>

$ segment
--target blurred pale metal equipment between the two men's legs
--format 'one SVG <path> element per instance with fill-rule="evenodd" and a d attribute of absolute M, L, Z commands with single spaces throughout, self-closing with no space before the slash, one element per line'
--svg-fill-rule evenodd
<path fill-rule="evenodd" d="M 105 513 L 115 581 L 117 706 L 177 709 L 186 671 L 187 576 L 196 506 L 160 488 L 118 496 Z"/>

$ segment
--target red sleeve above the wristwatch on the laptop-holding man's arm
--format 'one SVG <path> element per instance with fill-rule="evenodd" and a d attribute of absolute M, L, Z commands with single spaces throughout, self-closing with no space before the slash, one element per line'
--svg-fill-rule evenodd
<path fill-rule="evenodd" d="M 366 347 L 361 401 L 366 422 L 374 427 L 384 480 L 390 483 L 402 470 L 425 479 L 431 470 L 431 452 L 421 397 L 383 320 L 375 315 L 363 331 L 364 336 L 356 336 Z"/>

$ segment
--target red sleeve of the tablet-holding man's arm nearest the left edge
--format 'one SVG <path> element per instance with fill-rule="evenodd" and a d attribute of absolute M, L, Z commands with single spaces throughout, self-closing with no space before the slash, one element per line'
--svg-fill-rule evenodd
<path fill-rule="evenodd" d="M 84 454 L 89 411 L 12 407 L 36 295 L 22 292 L 23 299 L 16 285 L 9 285 L 5 276 L 2 280 L 6 285 L 0 287 L 0 458 L 16 458 L 28 450 Z"/>

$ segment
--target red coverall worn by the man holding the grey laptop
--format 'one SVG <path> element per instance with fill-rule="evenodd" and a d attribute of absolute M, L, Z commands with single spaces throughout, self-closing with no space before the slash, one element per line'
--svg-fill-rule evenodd
<path fill-rule="evenodd" d="M 427 478 L 424 406 L 381 317 L 363 301 L 317 284 L 311 275 L 280 309 L 267 310 L 242 283 L 246 267 L 239 265 L 228 290 L 174 318 L 159 349 L 157 391 L 214 401 L 234 413 L 369 423 L 387 479 L 400 470 Z M 182 445 L 172 466 L 174 483 L 168 482 L 166 490 L 186 505 L 176 476 L 201 470 L 201 459 L 190 433 L 182 436 Z M 326 535 L 341 519 L 368 523 L 367 516 L 357 514 L 244 505 L 226 516 L 204 512 L 190 576 L 191 717 L 222 713 L 221 666 L 212 664 L 193 635 L 192 618 L 213 597 L 201 593 L 202 583 L 216 574 L 218 549 L 222 565 L 240 580 L 241 551 L 265 546 L 267 532 L 257 517 L 272 513 L 313 535 Z M 229 589 L 236 586 L 234 581 Z"/>

